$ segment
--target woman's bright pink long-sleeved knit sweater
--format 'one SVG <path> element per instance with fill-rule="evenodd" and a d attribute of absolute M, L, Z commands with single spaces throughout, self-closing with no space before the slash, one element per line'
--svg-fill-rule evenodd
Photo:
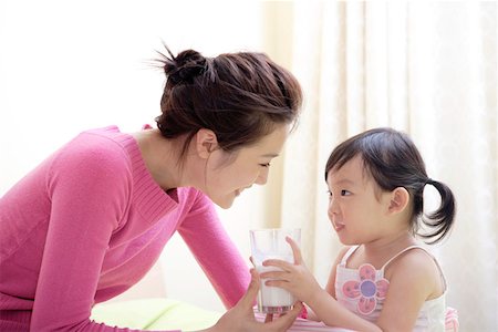
<path fill-rule="evenodd" d="M 212 203 L 164 193 L 117 127 L 82 133 L 0 198 L 0 331 L 121 331 L 92 307 L 141 280 L 177 230 L 232 307 L 250 276 Z"/>

